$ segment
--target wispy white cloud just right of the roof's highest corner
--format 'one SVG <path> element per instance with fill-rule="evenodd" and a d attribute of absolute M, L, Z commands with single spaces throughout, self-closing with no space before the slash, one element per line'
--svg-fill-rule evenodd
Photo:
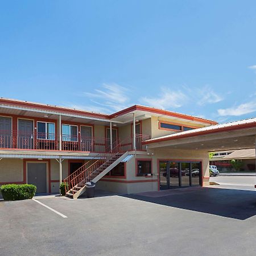
<path fill-rule="evenodd" d="M 157 97 L 143 97 L 142 101 L 149 106 L 155 108 L 168 109 L 180 108 L 187 102 L 187 96 L 180 90 L 173 91 L 169 88 L 160 88 L 160 93 Z"/>

